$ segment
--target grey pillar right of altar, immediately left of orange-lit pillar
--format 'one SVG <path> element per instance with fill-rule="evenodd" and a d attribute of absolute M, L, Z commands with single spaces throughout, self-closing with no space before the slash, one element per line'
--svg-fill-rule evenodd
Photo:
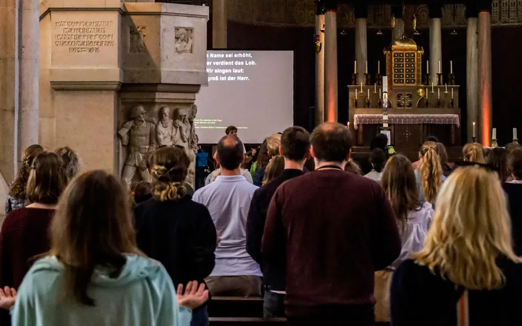
<path fill-rule="evenodd" d="M 480 125 L 479 119 L 479 49 L 478 49 L 478 12 L 477 6 L 467 4 L 466 16 L 468 17 L 466 30 L 466 90 L 467 90 L 467 137 L 466 141 L 471 142 L 473 139 L 473 122 L 476 123 L 476 130 Z M 478 134 L 476 134 L 478 136 Z M 477 137 L 480 141 L 481 138 Z"/>

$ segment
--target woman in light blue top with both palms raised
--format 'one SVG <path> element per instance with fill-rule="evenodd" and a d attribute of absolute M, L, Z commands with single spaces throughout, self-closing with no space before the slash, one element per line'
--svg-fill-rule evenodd
<path fill-rule="evenodd" d="M 73 180 L 52 222 L 51 251 L 18 289 L 13 324 L 188 326 L 208 291 L 190 282 L 176 299 L 167 271 L 137 249 L 129 213 L 115 177 L 93 171 Z M 1 307 L 13 293 L 0 292 Z"/>

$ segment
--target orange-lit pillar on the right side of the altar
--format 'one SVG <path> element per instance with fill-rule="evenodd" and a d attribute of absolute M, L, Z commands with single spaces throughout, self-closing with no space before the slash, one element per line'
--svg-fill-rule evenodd
<path fill-rule="evenodd" d="M 492 95 L 491 95 L 491 3 L 489 8 L 479 8 L 478 15 L 479 48 L 479 141 L 486 147 L 491 143 Z"/>

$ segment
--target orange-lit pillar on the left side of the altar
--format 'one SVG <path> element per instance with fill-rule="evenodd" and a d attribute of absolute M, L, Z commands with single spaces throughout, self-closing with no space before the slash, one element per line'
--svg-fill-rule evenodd
<path fill-rule="evenodd" d="M 337 121 L 337 4 L 325 3 L 325 122 Z"/>

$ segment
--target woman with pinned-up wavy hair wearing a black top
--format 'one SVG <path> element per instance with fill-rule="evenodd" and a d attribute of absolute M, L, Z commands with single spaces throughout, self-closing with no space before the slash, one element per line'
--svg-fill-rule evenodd
<path fill-rule="evenodd" d="M 189 159 L 182 148 L 152 155 L 152 199 L 134 209 L 138 248 L 159 260 L 175 286 L 204 283 L 215 264 L 216 227 L 208 209 L 186 195 Z M 191 325 L 208 325 L 207 306 L 193 311 Z"/>

